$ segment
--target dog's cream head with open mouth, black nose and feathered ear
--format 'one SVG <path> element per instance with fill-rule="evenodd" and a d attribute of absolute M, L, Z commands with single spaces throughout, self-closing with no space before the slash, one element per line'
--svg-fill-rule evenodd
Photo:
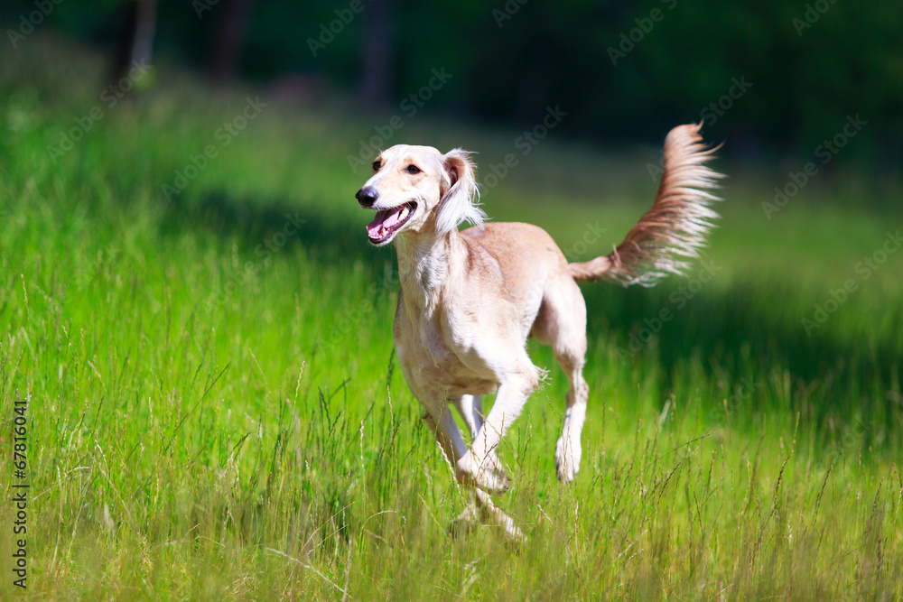
<path fill-rule="evenodd" d="M 397 144 L 373 162 L 373 176 L 355 198 L 377 218 L 367 227 L 370 242 L 387 245 L 403 232 L 442 236 L 486 215 L 479 208 L 476 168 L 470 153 L 442 154 L 432 146 Z"/>

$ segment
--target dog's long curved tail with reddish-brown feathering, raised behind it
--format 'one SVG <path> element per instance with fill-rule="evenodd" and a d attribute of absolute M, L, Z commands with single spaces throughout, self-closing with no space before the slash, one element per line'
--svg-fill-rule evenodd
<path fill-rule="evenodd" d="M 668 133 L 656 202 L 609 255 L 568 264 L 574 280 L 652 286 L 668 273 L 682 273 L 699 255 L 711 220 L 718 218 L 709 205 L 720 200 L 706 190 L 718 188 L 723 177 L 705 165 L 718 148 L 706 149 L 701 128 L 680 125 Z"/>

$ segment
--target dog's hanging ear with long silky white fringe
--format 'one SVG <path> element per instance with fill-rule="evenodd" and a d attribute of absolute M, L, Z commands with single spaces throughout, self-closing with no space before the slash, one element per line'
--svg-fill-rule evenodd
<path fill-rule="evenodd" d="M 480 226 L 486 214 L 479 208 L 477 167 L 470 161 L 470 153 L 460 148 L 445 154 L 442 161 L 445 177 L 442 178 L 442 199 L 436 214 L 436 233 L 448 234 L 467 221 Z"/>

